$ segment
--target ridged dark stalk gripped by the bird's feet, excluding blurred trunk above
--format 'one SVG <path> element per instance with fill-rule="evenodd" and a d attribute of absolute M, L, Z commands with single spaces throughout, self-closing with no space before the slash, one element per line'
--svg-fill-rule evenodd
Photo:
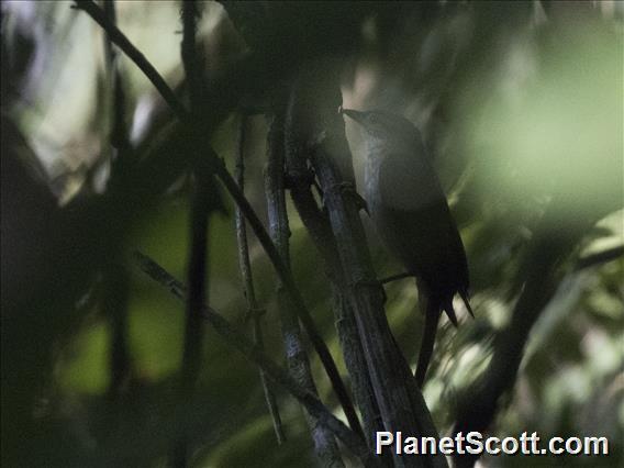
<path fill-rule="evenodd" d="M 383 311 L 380 286 L 375 281 L 366 249 L 359 209 L 348 204 L 337 190 L 341 177 L 328 155 L 315 151 L 314 169 L 325 196 L 332 227 L 338 244 L 342 265 L 349 281 L 349 300 L 355 310 L 368 374 L 386 431 L 437 437 L 437 431 L 415 386 L 405 358 L 399 350 Z M 401 409 L 401 410 L 399 410 Z M 399 467 L 446 466 L 443 456 L 402 457 L 394 455 Z"/>

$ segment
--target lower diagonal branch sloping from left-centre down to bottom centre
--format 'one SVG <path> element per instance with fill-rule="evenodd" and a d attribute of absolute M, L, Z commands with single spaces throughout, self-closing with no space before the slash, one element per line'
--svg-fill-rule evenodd
<path fill-rule="evenodd" d="M 167 288 L 176 298 L 186 301 L 187 291 L 185 286 L 163 267 L 140 252 L 134 253 L 134 258 L 141 269 L 153 280 Z M 328 427 L 353 454 L 359 457 L 366 467 L 379 466 L 377 457 L 368 450 L 361 437 L 334 416 L 314 394 L 297 383 L 286 370 L 275 364 L 265 353 L 259 350 L 254 343 L 238 332 L 236 327 L 227 322 L 213 308 L 204 307 L 202 316 L 230 346 L 242 353 L 249 361 L 260 367 L 272 382 L 293 395 L 312 416 L 317 419 L 321 424 Z"/>

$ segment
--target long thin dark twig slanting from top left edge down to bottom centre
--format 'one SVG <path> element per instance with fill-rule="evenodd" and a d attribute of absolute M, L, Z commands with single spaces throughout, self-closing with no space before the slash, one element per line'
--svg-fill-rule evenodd
<path fill-rule="evenodd" d="M 158 75 L 156 69 L 145 59 L 145 57 L 138 53 L 138 51 L 132 45 L 132 43 L 123 35 L 123 33 L 111 24 L 105 16 L 101 14 L 101 10 L 98 5 L 96 5 L 91 0 L 83 0 L 77 1 L 76 8 L 83 10 L 88 13 L 98 24 L 100 24 L 107 32 L 111 32 L 111 40 L 131 58 L 135 65 L 151 79 L 154 83 L 158 92 L 163 96 L 165 101 L 169 104 L 176 116 L 182 123 L 189 123 L 189 115 L 185 109 L 185 107 L 178 101 L 176 96 L 172 93 L 171 89 L 167 86 L 165 80 Z M 149 74 L 149 75 L 148 75 Z M 158 79 L 156 79 L 156 77 Z M 205 136 L 205 135 L 204 135 Z M 274 265 L 274 268 L 279 276 L 279 278 L 283 281 L 285 288 L 287 289 L 288 293 L 293 301 L 293 307 L 299 314 L 299 319 L 305 330 L 305 333 L 310 337 L 314 349 L 319 354 L 321 363 L 327 372 L 327 376 L 332 382 L 332 387 L 336 392 L 336 395 L 343 406 L 345 414 L 355 414 L 355 410 L 353 408 L 353 403 L 348 398 L 348 393 L 346 391 L 345 385 L 341 378 L 336 364 L 330 353 L 330 349 L 323 342 L 319 331 L 316 330 L 316 325 L 312 320 L 312 315 L 310 311 L 305 307 L 305 302 L 303 301 L 303 297 L 301 292 L 297 288 L 294 283 L 294 279 L 290 271 L 283 265 L 281 257 L 279 256 L 278 250 L 276 249 L 275 245 L 272 244 L 271 238 L 269 237 L 263 222 L 249 204 L 249 201 L 245 198 L 244 193 L 239 190 L 236 181 L 233 179 L 232 175 L 225 168 L 223 160 L 221 160 L 214 151 L 210 147 L 208 142 L 205 142 L 203 147 L 207 148 L 207 159 L 211 165 L 212 170 L 226 190 L 230 192 L 234 202 L 241 208 L 241 211 L 249 222 L 252 230 L 256 234 L 260 245 L 265 249 L 269 260 Z M 357 428 L 356 428 L 357 431 Z"/>

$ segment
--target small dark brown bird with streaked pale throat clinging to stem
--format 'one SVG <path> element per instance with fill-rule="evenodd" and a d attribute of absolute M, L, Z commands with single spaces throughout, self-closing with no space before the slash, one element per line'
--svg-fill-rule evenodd
<path fill-rule="evenodd" d="M 369 215 L 386 247 L 416 278 L 425 326 L 416 381 L 422 387 L 442 311 L 457 326 L 453 298 L 468 302 L 468 264 L 439 180 L 419 130 L 385 111 L 342 109 L 364 127 L 365 192 Z"/>

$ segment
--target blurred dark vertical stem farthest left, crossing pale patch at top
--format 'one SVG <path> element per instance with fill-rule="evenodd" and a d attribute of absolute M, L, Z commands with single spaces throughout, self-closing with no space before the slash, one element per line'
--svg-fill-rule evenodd
<path fill-rule="evenodd" d="M 104 13 L 114 24 L 115 3 L 114 0 L 104 2 Z M 107 60 L 108 80 L 110 83 L 110 92 L 108 97 L 111 102 L 111 125 L 110 125 L 110 155 L 111 155 L 111 176 L 109 189 L 115 188 L 114 185 L 123 183 L 123 174 L 120 168 L 130 158 L 130 144 L 127 140 L 127 126 L 125 123 L 125 92 L 119 69 L 119 57 L 111 42 L 110 35 L 104 36 L 104 51 Z M 114 192 L 114 190 L 109 190 Z M 123 191 L 120 191 L 123 192 Z M 110 202 L 115 207 L 119 197 L 113 197 Z M 119 226 L 119 220 L 115 220 L 115 226 Z M 119 397 L 130 379 L 132 371 L 130 352 L 127 349 L 127 299 L 129 299 L 129 274 L 123 266 L 121 258 L 120 245 L 123 239 L 124 232 L 122 229 L 113 230 L 112 242 L 114 243 L 114 252 L 111 259 L 104 265 L 104 313 L 111 321 L 111 354 L 110 354 L 110 372 L 111 380 L 109 394 L 111 398 Z"/>

